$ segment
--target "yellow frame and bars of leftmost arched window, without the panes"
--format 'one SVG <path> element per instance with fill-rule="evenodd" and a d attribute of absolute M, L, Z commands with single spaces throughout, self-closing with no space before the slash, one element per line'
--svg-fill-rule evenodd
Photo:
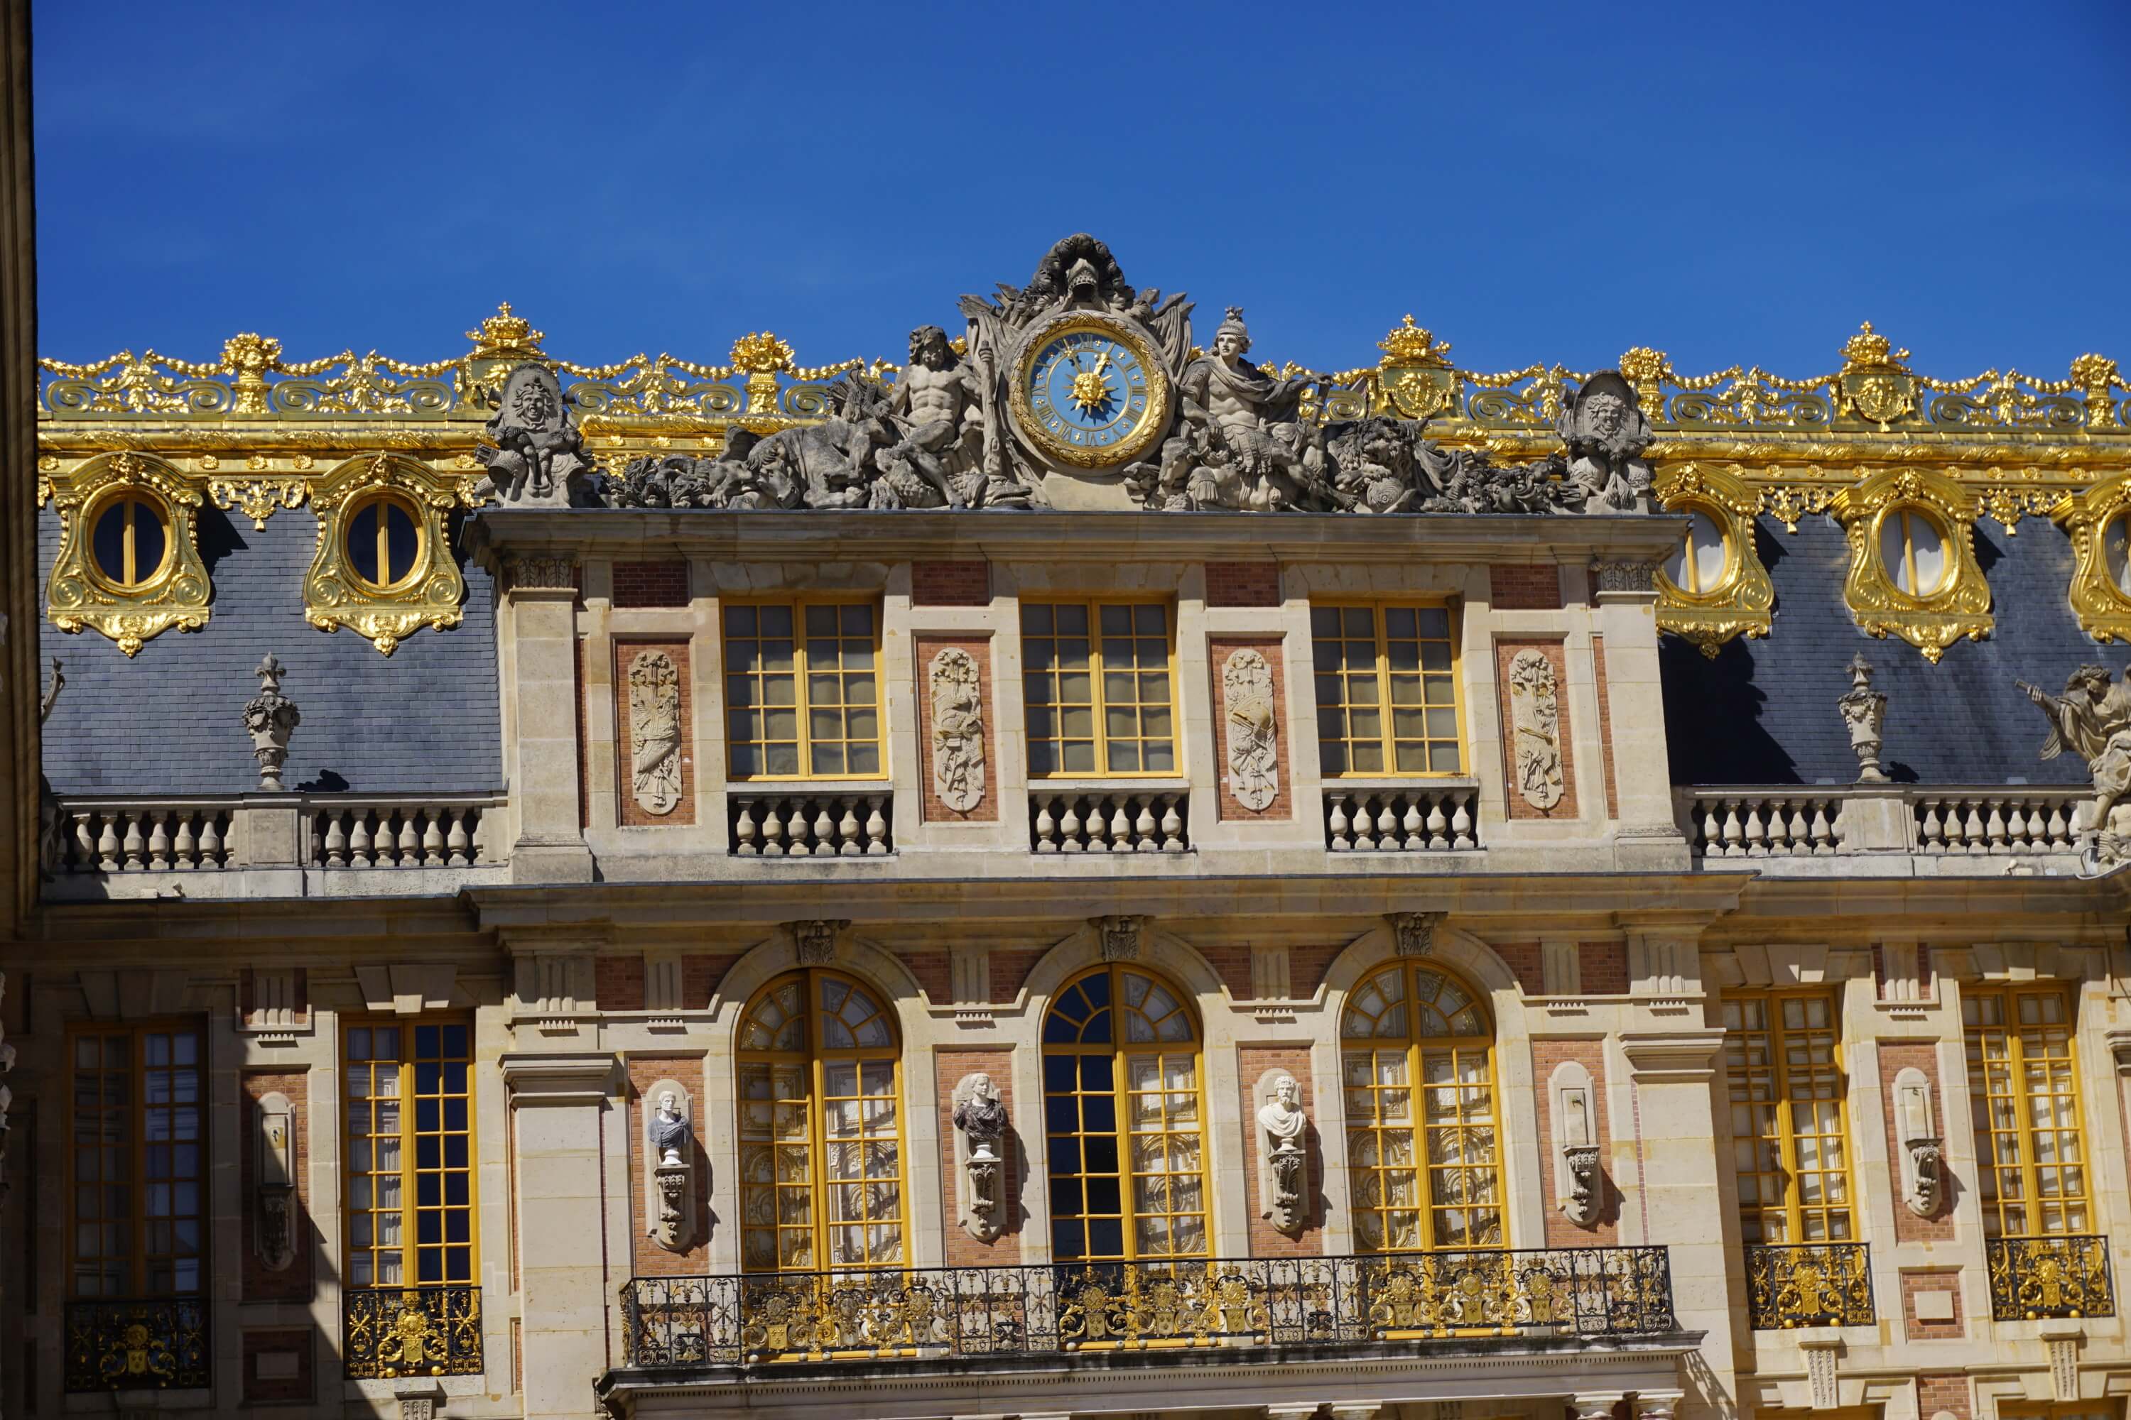
<path fill-rule="evenodd" d="M 782 1169 L 778 1169 L 774 1173 L 771 1184 L 769 1184 L 769 1190 L 771 1190 L 771 1220 L 769 1220 L 769 1231 L 771 1231 L 771 1241 L 776 1245 L 778 1265 L 776 1267 L 750 1267 L 748 1265 L 748 1245 L 746 1245 L 748 1243 L 748 1233 L 759 1231 L 761 1224 L 748 1220 L 748 1190 L 750 1190 L 750 1182 L 748 1182 L 746 1162 L 742 1162 L 742 1177 L 739 1177 L 739 1194 L 742 1194 L 742 1205 L 739 1205 L 739 1213 L 742 1213 L 742 1218 L 739 1218 L 739 1231 L 742 1231 L 739 1271 L 744 1271 L 748 1275 L 754 1275 L 754 1277 L 774 1277 L 774 1275 L 780 1275 L 780 1273 L 882 1271 L 882 1269 L 884 1271 L 893 1271 L 893 1269 L 899 1269 L 899 1267 L 908 1267 L 910 1265 L 910 1137 L 908 1137 L 908 1128 L 906 1128 L 906 1118 L 904 1116 L 906 1116 L 906 1109 L 910 1105 L 908 1105 L 906 1090 L 904 1090 L 904 1033 L 901 1033 L 901 1022 L 895 1020 L 895 1003 L 878 986 L 874 986 L 872 981 L 865 981 L 861 977 L 855 977 L 850 973 L 831 971 L 831 969 L 825 969 L 825 967 L 799 967 L 797 971 L 786 971 L 786 973 L 776 975 L 774 979 L 765 981 L 752 996 L 748 996 L 748 1005 L 739 1013 L 742 1030 L 746 1030 L 746 1024 L 754 1020 L 754 1011 L 763 1003 L 763 998 L 769 996 L 769 994 L 774 994 L 780 986 L 784 986 L 784 984 L 788 984 L 793 979 L 799 981 L 799 1016 L 806 1022 L 803 1024 L 806 1047 L 803 1050 L 750 1050 L 746 1045 L 739 1045 L 737 1037 L 735 1037 L 733 1067 L 735 1067 L 735 1081 L 744 1081 L 746 1079 L 746 1067 L 750 1067 L 750 1064 L 767 1064 L 771 1069 L 771 1084 L 776 1081 L 776 1067 L 780 1067 L 780 1064 L 784 1064 L 784 1067 L 799 1064 L 799 1067 L 806 1069 L 808 1096 L 803 1101 L 788 1101 L 784 1096 L 776 1096 L 774 1094 L 771 1096 L 774 1099 L 771 1107 L 774 1109 L 786 1109 L 786 1107 L 793 1107 L 793 1105 L 801 1105 L 803 1111 L 806 1111 L 806 1150 L 808 1150 L 808 1154 L 806 1154 L 806 1184 L 803 1186 L 806 1186 L 806 1192 L 808 1192 L 808 1199 L 810 1199 L 808 1220 L 810 1220 L 810 1235 L 812 1235 L 812 1243 L 810 1243 L 810 1248 L 812 1248 L 812 1254 L 810 1254 L 812 1260 L 806 1267 L 786 1267 L 786 1262 L 784 1262 L 786 1254 L 784 1254 L 784 1248 L 782 1248 L 782 1239 L 784 1239 L 784 1233 L 791 1231 L 791 1228 L 784 1224 L 784 1218 L 782 1218 L 782 1196 L 786 1192 L 791 1192 L 791 1182 L 784 1177 Z M 886 1026 L 889 1026 L 889 1043 L 886 1045 L 850 1045 L 850 1047 L 825 1045 L 823 1043 L 823 1020 L 820 1020 L 823 1011 L 827 1009 L 823 1005 L 823 984 L 825 981 L 840 981 L 844 986 L 850 986 L 850 988 L 863 992 L 865 998 L 880 1011 L 880 1018 L 886 1022 Z M 831 1143 L 831 1139 L 829 1139 L 829 1126 L 827 1126 L 829 1103 L 831 1103 L 831 1099 L 833 1101 L 846 1101 L 846 1099 L 865 1101 L 867 1099 L 865 1084 L 863 1084 L 863 1079 L 865 1079 L 865 1064 L 867 1062 L 880 1062 L 880 1060 L 886 1060 L 891 1064 L 891 1073 L 893 1073 L 893 1084 L 891 1084 L 891 1101 L 895 1103 L 895 1175 L 893 1175 L 893 1182 L 895 1182 L 895 1199 L 897 1199 L 895 1226 L 897 1226 L 897 1235 L 901 1239 L 901 1243 L 897 1248 L 899 1256 L 889 1258 L 889 1260 L 878 1260 L 878 1262 L 874 1262 L 874 1260 L 865 1260 L 865 1262 L 831 1262 L 829 1260 L 831 1258 L 831 1250 L 829 1250 L 831 1248 L 831 1233 L 837 1226 L 850 1226 L 855 1222 L 859 1228 L 867 1228 L 872 1224 L 878 1224 L 880 1220 L 876 1220 L 872 1216 L 865 1216 L 861 1220 L 837 1220 L 837 1218 L 831 1218 L 829 1192 L 833 1188 L 840 1188 L 840 1186 L 850 1186 L 852 1179 L 831 1179 L 827 1175 L 829 1143 Z M 855 1064 L 857 1079 L 859 1079 L 859 1094 L 857 1096 L 844 1096 L 844 1094 L 831 1096 L 829 1094 L 829 1067 L 831 1064 L 840 1064 L 840 1062 L 852 1062 Z M 750 1139 L 748 1139 L 748 1133 L 746 1133 L 748 1126 L 746 1126 L 746 1120 L 744 1120 L 744 1111 L 748 1107 L 748 1094 L 746 1094 L 744 1084 L 735 1084 L 733 1096 L 735 1096 L 735 1105 L 733 1107 L 735 1107 L 735 1116 L 737 1116 L 735 1135 L 739 1139 L 742 1160 L 746 1160 Z M 861 1103 L 861 1118 L 863 1118 L 863 1103 Z M 865 1139 L 867 1139 L 867 1135 L 861 1133 L 859 1135 L 859 1143 L 863 1145 Z M 769 1141 L 771 1160 L 778 1160 L 778 1152 L 780 1152 L 782 1145 L 784 1145 L 784 1135 L 778 1133 L 776 1128 L 771 1128 L 771 1141 Z M 859 1182 L 861 1184 L 876 1184 L 878 1179 L 874 1179 L 874 1177 L 861 1177 Z"/>

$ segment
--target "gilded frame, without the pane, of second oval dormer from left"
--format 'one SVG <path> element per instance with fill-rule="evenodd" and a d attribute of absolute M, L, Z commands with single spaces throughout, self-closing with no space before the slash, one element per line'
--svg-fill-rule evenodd
<path fill-rule="evenodd" d="M 358 453 L 311 488 L 318 515 L 318 547 L 303 577 L 303 615 L 311 626 L 335 632 L 343 626 L 367 637 L 384 656 L 416 630 L 458 626 L 467 579 L 452 560 L 445 517 L 458 507 L 477 507 L 477 475 L 439 473 L 403 453 Z M 390 588 L 364 581 L 347 558 L 347 524 L 356 509 L 377 494 L 398 494 L 416 511 L 413 568 Z"/>

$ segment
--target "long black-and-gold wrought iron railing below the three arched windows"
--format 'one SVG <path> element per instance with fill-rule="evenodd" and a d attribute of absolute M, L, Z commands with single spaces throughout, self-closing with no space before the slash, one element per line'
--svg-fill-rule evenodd
<path fill-rule="evenodd" d="M 1677 1331 L 1664 1248 L 633 1277 L 622 1311 L 629 1367 Z"/>

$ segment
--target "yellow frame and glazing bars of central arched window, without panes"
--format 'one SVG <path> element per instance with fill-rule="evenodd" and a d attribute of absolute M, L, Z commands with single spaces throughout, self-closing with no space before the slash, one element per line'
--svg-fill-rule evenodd
<path fill-rule="evenodd" d="M 1123 990 L 1123 986 L 1125 986 L 1125 977 L 1129 977 L 1129 975 L 1146 977 L 1153 986 L 1159 986 L 1161 990 L 1166 990 L 1176 1001 L 1178 1011 L 1185 1018 L 1185 1024 L 1191 1028 L 1189 1039 L 1183 1039 L 1183 1041 L 1161 1041 L 1161 1039 L 1155 1039 L 1155 1041 L 1127 1041 L 1125 1039 L 1125 1030 L 1121 1026 L 1123 1011 L 1125 1011 L 1125 990 Z M 1108 1039 L 1108 1043 L 1102 1043 L 1102 1041 L 1095 1041 L 1095 1043 L 1080 1043 L 1080 1041 L 1066 1043 L 1066 1041 L 1057 1041 L 1057 1043 L 1053 1043 L 1048 1039 L 1042 1039 L 1042 1037 L 1048 1035 L 1051 1013 L 1057 1007 L 1057 1003 L 1066 996 L 1068 990 L 1080 986 L 1083 981 L 1087 981 L 1091 977 L 1104 977 L 1108 981 L 1108 1005 L 1095 1007 L 1097 1011 L 1108 1011 L 1108 1016 L 1110 1016 L 1110 1039 Z M 1068 1099 L 1068 1096 L 1070 1099 L 1083 1099 L 1083 1096 L 1087 1096 L 1087 1092 L 1078 1088 L 1078 1064 L 1076 1064 L 1076 1084 L 1074 1084 L 1074 1090 L 1070 1090 L 1070 1092 L 1053 1090 L 1051 1088 L 1051 1079 L 1048 1079 L 1048 1062 L 1053 1058 L 1063 1058 L 1063 1056 L 1070 1056 L 1076 1062 L 1083 1056 L 1108 1056 L 1110 1058 L 1110 1109 L 1112 1109 L 1112 1122 L 1115 1122 L 1112 1139 L 1117 1143 L 1119 1248 L 1121 1248 L 1123 1256 L 1121 1258 L 1095 1256 L 1091 1248 L 1083 1245 L 1080 1256 L 1068 1258 L 1068 1260 L 1072 1260 L 1072 1262 L 1117 1262 L 1117 1260 L 1134 1262 L 1134 1260 L 1142 1260 L 1140 1258 L 1140 1231 L 1138 1231 L 1140 1218 L 1168 1218 L 1170 1224 L 1172 1224 L 1170 1237 L 1174 1237 L 1174 1220 L 1178 1220 L 1178 1218 L 1198 1218 L 1200 1220 L 1200 1250 L 1198 1252 L 1146 1254 L 1146 1260 L 1170 1262 L 1170 1260 L 1189 1260 L 1189 1258 L 1213 1256 L 1213 1160 L 1208 1158 L 1210 1135 L 1213 1135 L 1210 1124 L 1213 1122 L 1206 1118 L 1206 1028 L 1204 1028 L 1204 1022 L 1200 1022 L 1198 1009 L 1191 1005 L 1191 994 L 1185 992 L 1181 986 L 1176 986 L 1174 979 L 1170 979 L 1168 975 L 1164 975 L 1159 971 L 1149 971 L 1144 967 L 1136 967 L 1136 964 L 1129 964 L 1129 962 L 1106 962 L 1102 967 L 1093 967 L 1089 971 L 1080 971 L 1074 977 L 1070 977 L 1068 981 L 1059 984 L 1057 992 L 1053 992 L 1051 1001 L 1044 1005 L 1044 1016 L 1042 1016 L 1042 1026 L 1038 1028 L 1038 1039 L 1040 1039 L 1040 1043 L 1038 1043 L 1040 1067 L 1044 1069 L 1044 1173 L 1046 1173 L 1046 1179 L 1048 1179 L 1053 1139 L 1066 1139 L 1066 1137 L 1070 1137 L 1070 1139 L 1076 1141 L 1076 1147 L 1080 1150 L 1080 1154 L 1078 1154 L 1078 1158 L 1080 1158 L 1080 1171 L 1074 1173 L 1072 1177 L 1080 1179 L 1083 1190 L 1087 1186 L 1087 1179 L 1091 1179 L 1091 1177 L 1106 1177 L 1100 1171 L 1089 1171 L 1087 1169 L 1087 1152 L 1085 1152 L 1085 1145 L 1080 1143 L 1085 1139 L 1095 1139 L 1100 1135 L 1093 1135 L 1093 1133 L 1080 1128 L 1080 1122 L 1083 1122 L 1085 1116 L 1080 1116 L 1078 1109 L 1074 1111 L 1076 1128 L 1074 1128 L 1072 1135 L 1055 1135 L 1053 1133 L 1053 1128 L 1051 1128 L 1051 1101 L 1053 1099 Z M 1159 1135 L 1168 1137 L 1168 1135 L 1178 1135 L 1183 1130 L 1170 1128 L 1172 1116 L 1170 1116 L 1166 1103 L 1164 1103 L 1164 1113 L 1161 1113 L 1161 1122 L 1159 1122 L 1161 1126 L 1159 1128 L 1155 1128 L 1155 1130 L 1136 1130 L 1134 1128 L 1134 1122 L 1136 1122 L 1134 1113 L 1132 1113 L 1132 1099 L 1134 1099 L 1134 1094 L 1168 1096 L 1168 1094 L 1172 1094 L 1172 1090 L 1159 1088 L 1159 1086 L 1155 1090 L 1151 1090 L 1151 1092 L 1149 1090 L 1134 1090 L 1132 1088 L 1132 1073 L 1129 1073 L 1129 1058 L 1134 1054 L 1138 1054 L 1138 1056 L 1153 1054 L 1155 1060 L 1157 1060 L 1157 1069 L 1161 1069 L 1161 1060 L 1166 1056 L 1178 1054 L 1181 1050 L 1189 1050 L 1191 1052 L 1191 1099 L 1193 1099 L 1193 1120 L 1195 1120 L 1195 1130 L 1193 1133 L 1198 1135 L 1198 1156 L 1200 1156 L 1200 1167 L 1198 1167 L 1200 1205 L 1198 1205 L 1198 1209 L 1174 1209 L 1174 1207 L 1170 1207 L 1170 1209 L 1164 1209 L 1159 1213 L 1155 1213 L 1155 1211 L 1142 1213 L 1138 1209 L 1138 1192 L 1140 1192 L 1138 1190 L 1138 1182 L 1142 1177 L 1149 1177 L 1149 1179 L 1153 1179 L 1153 1177 L 1176 1179 L 1176 1177 L 1189 1177 L 1189 1173 L 1176 1173 L 1176 1171 L 1140 1173 L 1140 1169 L 1136 1167 L 1136 1158 L 1134 1158 L 1134 1152 L 1132 1152 L 1132 1139 L 1134 1139 L 1136 1133 L 1142 1133 L 1142 1135 L 1144 1133 L 1159 1133 Z M 1106 1213 L 1089 1213 L 1087 1211 L 1087 1196 L 1083 1192 L 1080 1209 L 1076 1209 L 1072 1213 L 1061 1213 L 1059 1207 L 1057 1207 L 1057 1201 L 1053 1199 L 1051 1218 L 1053 1218 L 1053 1222 L 1059 1220 L 1059 1218 L 1076 1218 L 1076 1220 L 1080 1220 L 1080 1224 L 1083 1224 L 1083 1241 L 1085 1241 L 1087 1239 L 1087 1222 L 1091 1218 L 1106 1218 Z M 1053 1260 L 1059 1260 L 1059 1258 L 1053 1258 Z"/>

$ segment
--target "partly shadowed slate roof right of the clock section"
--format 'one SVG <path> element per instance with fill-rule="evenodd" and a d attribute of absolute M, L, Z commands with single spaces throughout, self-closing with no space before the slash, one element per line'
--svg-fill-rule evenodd
<path fill-rule="evenodd" d="M 1760 519 L 1756 545 L 1775 583 L 1775 626 L 1764 641 L 1730 641 L 1715 660 L 1664 637 L 1664 730 L 1673 783 L 1850 783 L 1856 754 L 1835 700 L 1850 690 L 1850 658 L 1865 651 L 1884 690 L 1888 777 L 1914 783 L 2086 783 L 2071 754 L 2039 760 L 2048 722 L 2014 681 L 2059 692 L 2080 664 L 2120 666 L 2071 615 L 2071 539 L 2039 517 L 2010 536 L 1975 524 L 1975 560 L 1990 581 L 1997 628 L 1956 641 L 1939 664 L 1901 641 L 1858 630 L 1843 605 L 1850 549 L 1833 517 L 1796 532 Z"/>

